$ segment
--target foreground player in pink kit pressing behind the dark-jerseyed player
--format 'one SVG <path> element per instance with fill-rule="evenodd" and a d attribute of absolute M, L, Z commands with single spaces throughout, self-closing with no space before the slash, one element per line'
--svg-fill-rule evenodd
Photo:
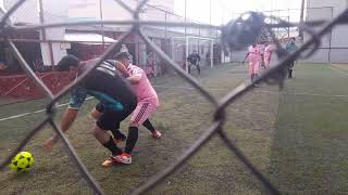
<path fill-rule="evenodd" d="M 138 140 L 138 128 L 140 125 L 145 126 L 154 139 L 161 138 L 161 133 L 153 128 L 149 120 L 149 117 L 156 112 L 159 105 L 159 98 L 147 78 L 145 70 L 130 64 L 126 52 L 117 53 L 115 60 L 119 62 L 116 68 L 126 77 L 126 80 L 133 84 L 138 99 L 138 104 L 130 117 L 124 153 L 114 158 L 110 158 L 109 161 L 103 164 L 104 167 L 110 167 L 115 164 L 132 164 L 132 152 Z M 122 66 L 126 68 L 126 72 Z M 95 118 L 98 118 L 101 113 L 102 108 L 100 108 L 100 105 L 97 105 L 91 115 Z M 114 133 L 114 135 L 116 133 Z"/>

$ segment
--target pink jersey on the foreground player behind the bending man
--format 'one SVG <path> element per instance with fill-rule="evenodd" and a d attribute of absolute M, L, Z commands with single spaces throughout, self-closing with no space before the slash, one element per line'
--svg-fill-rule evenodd
<path fill-rule="evenodd" d="M 138 102 L 147 102 L 147 103 L 153 104 L 154 106 L 158 106 L 159 98 L 154 89 L 152 88 L 150 80 L 146 76 L 146 73 L 144 72 L 144 69 L 130 64 L 127 70 L 129 76 L 140 77 L 139 83 L 133 84 L 138 98 Z"/>

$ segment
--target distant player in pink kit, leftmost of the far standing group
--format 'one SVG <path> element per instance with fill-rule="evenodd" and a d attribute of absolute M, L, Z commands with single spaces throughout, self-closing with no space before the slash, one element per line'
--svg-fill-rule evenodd
<path fill-rule="evenodd" d="M 259 76 L 259 69 L 261 65 L 261 50 L 257 43 L 253 43 L 249 47 L 248 53 L 246 54 L 243 63 L 249 60 L 249 74 L 251 78 L 251 82 L 253 82 Z"/>

